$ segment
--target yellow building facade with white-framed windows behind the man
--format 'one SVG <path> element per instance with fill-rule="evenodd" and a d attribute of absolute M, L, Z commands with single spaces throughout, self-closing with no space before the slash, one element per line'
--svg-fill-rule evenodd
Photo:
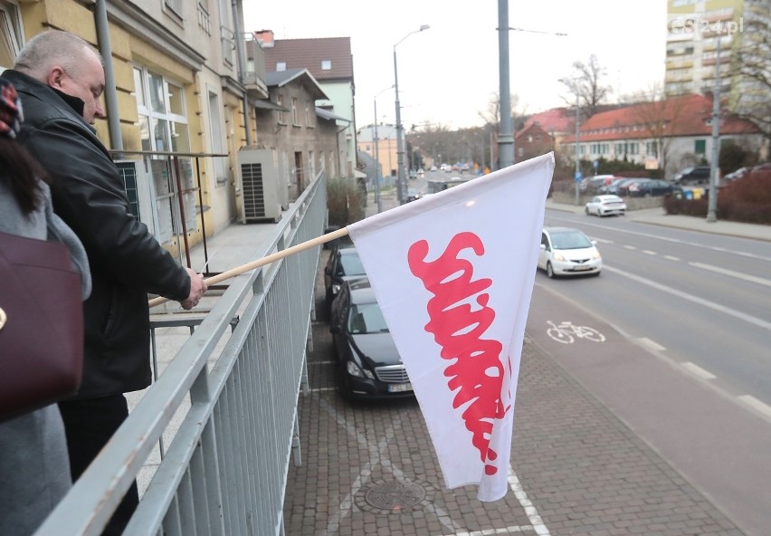
<path fill-rule="evenodd" d="M 264 82 L 241 81 L 236 4 L 0 0 L 9 22 L 0 27 L 0 69 L 12 68 L 24 43 L 48 29 L 100 50 L 108 87 L 99 138 L 124 151 L 113 154 L 132 210 L 180 257 L 239 219 L 236 153 L 255 142 L 250 100 L 267 97 Z"/>

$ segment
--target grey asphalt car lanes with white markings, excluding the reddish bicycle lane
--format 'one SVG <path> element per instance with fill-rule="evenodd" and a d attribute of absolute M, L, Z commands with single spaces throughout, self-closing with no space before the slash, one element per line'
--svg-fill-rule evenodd
<path fill-rule="evenodd" d="M 767 243 L 623 217 L 547 212 L 546 225 L 580 228 L 604 261 L 599 278 L 559 280 L 553 288 L 628 337 L 714 376 L 729 394 L 771 406 Z"/>

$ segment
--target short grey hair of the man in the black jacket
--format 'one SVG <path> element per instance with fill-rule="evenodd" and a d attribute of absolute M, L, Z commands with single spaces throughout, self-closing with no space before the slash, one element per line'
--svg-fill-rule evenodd
<path fill-rule="evenodd" d="M 95 54 L 104 64 L 101 54 L 89 42 L 69 32 L 48 30 L 35 35 L 16 56 L 14 69 L 45 81 L 53 66 L 59 65 L 71 76 L 80 73 L 83 55 L 86 51 Z"/>

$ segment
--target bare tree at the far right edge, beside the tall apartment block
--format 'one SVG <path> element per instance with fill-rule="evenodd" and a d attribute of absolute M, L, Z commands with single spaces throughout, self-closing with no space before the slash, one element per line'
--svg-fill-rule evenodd
<path fill-rule="evenodd" d="M 741 46 L 731 72 L 738 75 L 733 107 L 738 117 L 759 129 L 771 142 L 771 7 L 748 2 Z"/>

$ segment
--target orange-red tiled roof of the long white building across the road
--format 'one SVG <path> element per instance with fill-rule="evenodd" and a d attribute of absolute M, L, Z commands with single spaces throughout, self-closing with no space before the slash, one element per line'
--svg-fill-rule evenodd
<path fill-rule="evenodd" d="M 709 136 L 712 99 L 683 95 L 666 101 L 643 102 L 595 114 L 580 127 L 581 141 L 647 139 L 671 136 Z M 662 129 L 663 126 L 663 129 Z M 757 128 L 746 120 L 724 114 L 720 134 L 752 134 Z M 568 137 L 564 141 L 575 139 Z"/>

